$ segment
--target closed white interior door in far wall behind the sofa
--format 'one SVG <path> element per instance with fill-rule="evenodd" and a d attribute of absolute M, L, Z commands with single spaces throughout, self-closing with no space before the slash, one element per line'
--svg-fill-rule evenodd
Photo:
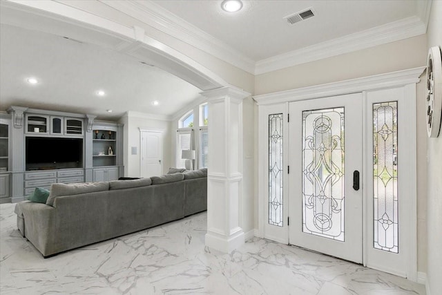
<path fill-rule="evenodd" d="M 143 178 L 162 175 L 162 132 L 141 131 L 141 155 L 141 176 Z"/>

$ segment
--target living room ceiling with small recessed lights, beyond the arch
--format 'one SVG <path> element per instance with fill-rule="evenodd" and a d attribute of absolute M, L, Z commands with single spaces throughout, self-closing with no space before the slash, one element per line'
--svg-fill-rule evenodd
<path fill-rule="evenodd" d="M 28 106 L 113 120 L 126 111 L 171 115 L 200 96 L 195 86 L 115 50 L 15 26 L 0 29 L 2 111 Z M 40 82 L 27 84 L 27 77 Z M 99 89 L 104 97 L 96 95 Z"/>

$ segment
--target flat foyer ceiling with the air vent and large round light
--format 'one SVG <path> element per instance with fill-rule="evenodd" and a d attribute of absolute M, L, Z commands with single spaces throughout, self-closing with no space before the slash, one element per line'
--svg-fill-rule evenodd
<path fill-rule="evenodd" d="M 222 1 L 153 2 L 254 61 L 419 15 L 412 0 L 250 0 L 234 13 L 224 12 Z M 294 25 L 282 19 L 306 8 L 316 16 Z"/>

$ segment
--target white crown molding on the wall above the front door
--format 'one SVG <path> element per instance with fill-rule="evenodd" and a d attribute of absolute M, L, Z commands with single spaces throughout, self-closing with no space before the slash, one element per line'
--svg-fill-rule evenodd
<path fill-rule="evenodd" d="M 255 75 L 416 37 L 425 34 L 426 31 L 427 26 L 419 17 L 408 17 L 383 26 L 377 26 L 320 44 L 300 48 L 289 53 L 262 59 L 256 62 Z"/>

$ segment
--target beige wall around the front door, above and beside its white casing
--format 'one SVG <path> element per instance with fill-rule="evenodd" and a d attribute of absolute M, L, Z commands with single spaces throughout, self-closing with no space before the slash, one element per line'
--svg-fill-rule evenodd
<path fill-rule="evenodd" d="M 329 57 L 307 64 L 300 64 L 271 73 L 256 76 L 255 94 L 273 93 L 286 91 L 306 86 L 314 86 L 331 82 L 367 77 L 382 73 L 390 73 L 407 68 L 416 68 L 426 65 L 427 46 L 426 36 L 421 35 L 401 41 L 384 44 L 373 48 L 358 50 L 336 57 Z M 424 101 L 423 82 L 418 85 L 417 101 L 417 191 L 418 191 L 418 271 L 426 271 L 426 227 L 425 227 L 425 204 L 426 204 L 426 164 L 425 164 L 425 139 L 426 134 L 425 113 L 423 112 Z M 439 174 L 441 175 L 441 174 Z M 256 200 L 256 204 L 258 200 Z M 258 207 L 255 206 L 255 210 Z M 258 211 L 255 211 L 258 216 Z M 258 219 L 255 218 L 255 228 L 258 229 Z"/>

